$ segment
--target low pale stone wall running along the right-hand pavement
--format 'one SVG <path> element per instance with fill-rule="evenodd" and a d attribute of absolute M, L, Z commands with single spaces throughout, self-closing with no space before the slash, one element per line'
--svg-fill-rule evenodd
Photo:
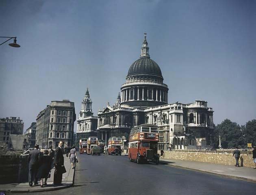
<path fill-rule="evenodd" d="M 160 154 L 160 150 L 158 150 Z M 241 154 L 243 157 L 243 166 L 254 167 L 252 154 Z M 215 163 L 223 165 L 235 165 L 236 160 L 232 153 L 207 153 L 207 152 L 190 152 L 190 151 L 165 151 L 165 159 L 197 161 L 206 163 Z M 239 163 L 241 160 L 239 159 Z"/>

